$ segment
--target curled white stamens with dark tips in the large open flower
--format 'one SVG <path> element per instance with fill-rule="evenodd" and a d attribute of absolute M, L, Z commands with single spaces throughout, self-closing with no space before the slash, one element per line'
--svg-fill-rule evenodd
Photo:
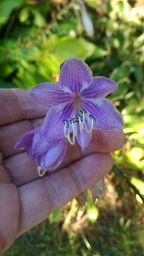
<path fill-rule="evenodd" d="M 94 116 L 89 115 L 90 119 L 90 128 L 87 127 L 85 115 L 87 111 L 83 108 L 80 108 L 80 115 L 77 114 L 75 118 L 72 118 L 69 122 L 68 120 L 64 120 L 64 137 L 69 141 L 71 145 L 75 145 L 75 138 L 77 136 L 77 129 L 79 125 L 80 133 L 86 131 L 87 133 L 92 132 L 94 129 L 94 122 L 96 118 Z"/>

